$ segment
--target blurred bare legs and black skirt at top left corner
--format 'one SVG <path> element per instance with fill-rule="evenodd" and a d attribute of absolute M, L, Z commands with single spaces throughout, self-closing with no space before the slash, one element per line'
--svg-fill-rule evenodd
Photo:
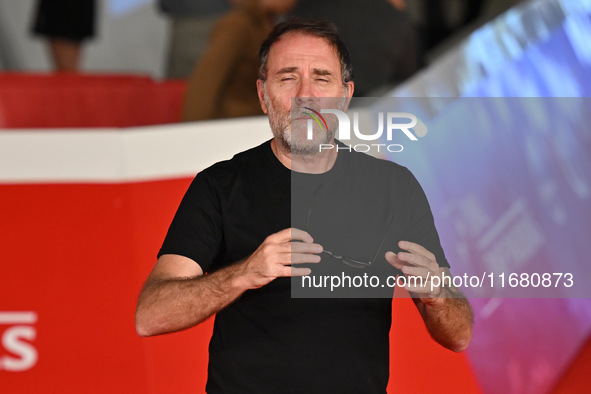
<path fill-rule="evenodd" d="M 77 72 L 82 42 L 95 35 L 95 0 L 39 0 L 33 32 L 46 37 L 56 71 Z"/>

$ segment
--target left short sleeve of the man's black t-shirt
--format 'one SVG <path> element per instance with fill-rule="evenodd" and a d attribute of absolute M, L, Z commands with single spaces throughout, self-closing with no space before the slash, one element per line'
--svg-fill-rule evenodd
<path fill-rule="evenodd" d="M 219 253 L 222 219 L 215 183 L 202 171 L 185 193 L 158 257 L 176 254 L 195 261 L 207 272 Z"/>

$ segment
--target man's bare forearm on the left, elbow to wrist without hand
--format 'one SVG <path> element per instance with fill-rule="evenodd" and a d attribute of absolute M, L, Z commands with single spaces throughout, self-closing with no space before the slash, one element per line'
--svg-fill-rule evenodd
<path fill-rule="evenodd" d="M 156 279 L 144 285 L 135 314 L 140 336 L 193 327 L 242 295 L 239 264 L 192 278 Z"/>

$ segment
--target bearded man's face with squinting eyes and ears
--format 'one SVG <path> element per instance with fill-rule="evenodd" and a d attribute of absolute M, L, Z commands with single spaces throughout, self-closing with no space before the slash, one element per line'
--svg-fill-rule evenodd
<path fill-rule="evenodd" d="M 267 62 L 267 81 L 257 81 L 261 107 L 277 143 L 287 152 L 299 155 L 318 153 L 319 144 L 331 143 L 337 127 L 336 118 L 327 116 L 328 130 L 314 128 L 307 138 L 310 116 L 301 107 L 344 109 L 353 95 L 353 82 L 343 86 L 341 64 L 336 52 L 323 38 L 298 32 L 287 33 L 271 46 Z M 292 98 L 296 107 L 291 108 Z M 332 104 L 321 97 L 343 97 Z"/>

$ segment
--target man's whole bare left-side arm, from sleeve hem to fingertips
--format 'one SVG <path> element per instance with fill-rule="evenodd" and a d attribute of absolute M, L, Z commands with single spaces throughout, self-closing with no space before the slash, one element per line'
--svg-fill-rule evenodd
<path fill-rule="evenodd" d="M 193 327 L 246 290 L 280 276 L 309 275 L 309 268 L 297 265 L 318 263 L 321 252 L 310 234 L 289 228 L 268 236 L 245 260 L 207 275 L 187 257 L 163 255 L 140 293 L 136 330 L 150 336 Z"/>

